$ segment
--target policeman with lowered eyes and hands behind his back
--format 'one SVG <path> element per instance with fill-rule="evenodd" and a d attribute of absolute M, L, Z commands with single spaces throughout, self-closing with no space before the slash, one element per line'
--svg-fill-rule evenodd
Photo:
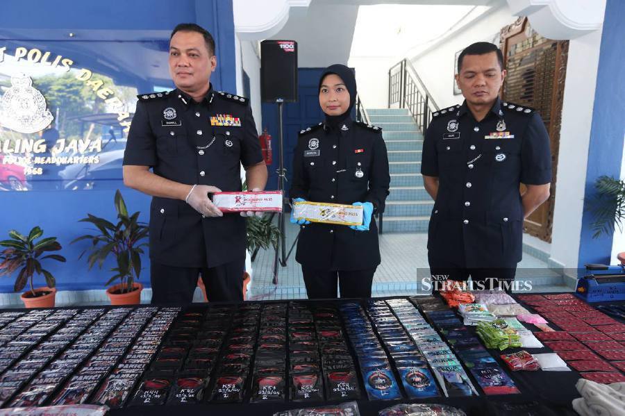
<path fill-rule="evenodd" d="M 499 99 L 505 76 L 494 44 L 467 47 L 456 75 L 465 102 L 434 113 L 427 128 L 421 172 L 435 200 L 428 230 L 434 280 L 470 275 L 476 289 L 513 281 L 523 221 L 549 198 L 549 135 L 535 110 Z"/>

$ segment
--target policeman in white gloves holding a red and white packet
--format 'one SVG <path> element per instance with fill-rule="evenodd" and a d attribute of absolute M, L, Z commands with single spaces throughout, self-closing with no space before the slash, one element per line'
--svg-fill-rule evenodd
<path fill-rule="evenodd" d="M 247 99 L 210 84 L 216 65 L 208 31 L 176 26 L 169 72 L 177 88 L 140 95 L 128 133 L 124 183 L 153 197 L 152 303 L 189 303 L 199 274 L 210 301 L 242 301 L 245 219 L 224 215 L 210 193 L 240 191 L 241 164 L 248 188 L 262 190 L 267 168 Z"/>

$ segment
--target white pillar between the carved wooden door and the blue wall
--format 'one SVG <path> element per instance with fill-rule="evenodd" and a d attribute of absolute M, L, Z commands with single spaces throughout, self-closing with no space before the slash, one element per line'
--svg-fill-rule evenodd
<path fill-rule="evenodd" d="M 551 259 L 567 269 L 578 262 L 600 45 L 601 31 L 569 41 L 551 238 Z"/>

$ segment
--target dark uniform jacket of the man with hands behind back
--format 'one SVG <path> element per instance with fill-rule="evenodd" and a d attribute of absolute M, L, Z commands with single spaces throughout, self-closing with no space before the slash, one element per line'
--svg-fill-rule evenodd
<path fill-rule="evenodd" d="M 481 122 L 466 101 L 440 110 L 426 131 L 421 172 L 439 178 L 429 257 L 458 267 L 516 267 L 524 219 L 519 183 L 551 182 L 540 115 L 499 99 Z"/>

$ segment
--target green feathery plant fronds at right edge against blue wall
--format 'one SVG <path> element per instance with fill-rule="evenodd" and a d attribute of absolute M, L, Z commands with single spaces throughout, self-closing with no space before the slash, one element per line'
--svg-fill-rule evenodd
<path fill-rule="evenodd" d="M 590 213 L 594 216 L 591 228 L 592 238 L 602 233 L 610 235 L 615 231 L 615 224 L 623 231 L 625 222 L 625 181 L 612 176 L 600 176 L 594 183 L 597 194 L 590 201 Z"/>

